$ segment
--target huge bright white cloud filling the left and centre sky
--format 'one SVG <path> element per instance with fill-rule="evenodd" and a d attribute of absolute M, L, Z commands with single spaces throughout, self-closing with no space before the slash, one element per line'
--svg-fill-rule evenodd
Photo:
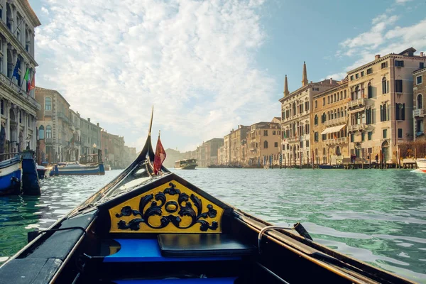
<path fill-rule="evenodd" d="M 155 124 L 177 140 L 223 136 L 241 114 L 272 119 L 275 82 L 253 62 L 262 3 L 50 0 L 51 21 L 36 32 L 38 82 L 129 144 L 152 104 Z"/>

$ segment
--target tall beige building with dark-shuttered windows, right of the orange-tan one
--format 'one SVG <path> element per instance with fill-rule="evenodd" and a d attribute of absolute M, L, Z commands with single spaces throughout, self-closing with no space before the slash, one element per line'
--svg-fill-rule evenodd
<path fill-rule="evenodd" d="M 357 157 L 396 163 L 398 143 L 413 141 L 413 72 L 426 62 L 415 51 L 376 55 L 348 72 L 349 149 Z"/>

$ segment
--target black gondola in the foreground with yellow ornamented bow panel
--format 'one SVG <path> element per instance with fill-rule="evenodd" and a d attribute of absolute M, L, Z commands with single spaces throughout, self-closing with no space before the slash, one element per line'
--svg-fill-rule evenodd
<path fill-rule="evenodd" d="M 150 129 L 151 133 L 151 129 Z M 0 268 L 4 283 L 411 283 L 242 212 L 160 166 L 118 177 Z M 154 164 L 154 165 L 153 165 Z M 158 165 L 158 164 L 157 164 Z"/>

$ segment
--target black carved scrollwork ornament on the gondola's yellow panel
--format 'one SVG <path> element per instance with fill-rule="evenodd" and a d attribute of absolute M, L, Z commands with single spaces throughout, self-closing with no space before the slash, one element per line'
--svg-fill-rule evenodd
<path fill-rule="evenodd" d="M 116 214 L 117 218 L 123 216 L 138 216 L 138 218 L 132 219 L 129 224 L 124 220 L 118 222 L 119 229 L 131 229 L 132 231 L 138 231 L 140 224 L 144 223 L 153 229 L 162 229 L 168 224 L 173 224 L 178 229 L 188 229 L 195 224 L 200 224 L 201 231 L 216 230 L 219 224 L 215 221 L 210 224 L 207 219 L 214 218 L 217 216 L 217 210 L 214 209 L 212 204 L 207 204 L 207 212 L 202 212 L 202 200 L 191 194 L 188 196 L 185 192 L 181 192 L 176 185 L 172 182 L 169 183 L 170 187 L 151 195 L 145 195 L 139 201 L 139 210 L 131 209 L 130 206 L 125 206 L 121 209 L 120 214 Z M 168 201 L 165 195 L 179 195 L 178 202 Z M 178 215 L 163 215 L 162 207 L 164 205 L 165 212 L 175 213 Z M 178 211 L 179 210 L 179 211 Z M 149 218 L 152 216 L 161 216 L 160 224 L 153 226 L 149 222 Z M 180 222 L 182 217 L 190 217 L 191 222 L 187 226 L 181 226 Z"/>

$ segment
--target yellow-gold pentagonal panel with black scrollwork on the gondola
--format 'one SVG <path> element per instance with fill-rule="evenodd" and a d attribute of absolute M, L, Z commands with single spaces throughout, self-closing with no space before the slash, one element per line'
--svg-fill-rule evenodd
<path fill-rule="evenodd" d="M 171 182 L 109 209 L 111 233 L 221 233 L 224 209 Z"/>

